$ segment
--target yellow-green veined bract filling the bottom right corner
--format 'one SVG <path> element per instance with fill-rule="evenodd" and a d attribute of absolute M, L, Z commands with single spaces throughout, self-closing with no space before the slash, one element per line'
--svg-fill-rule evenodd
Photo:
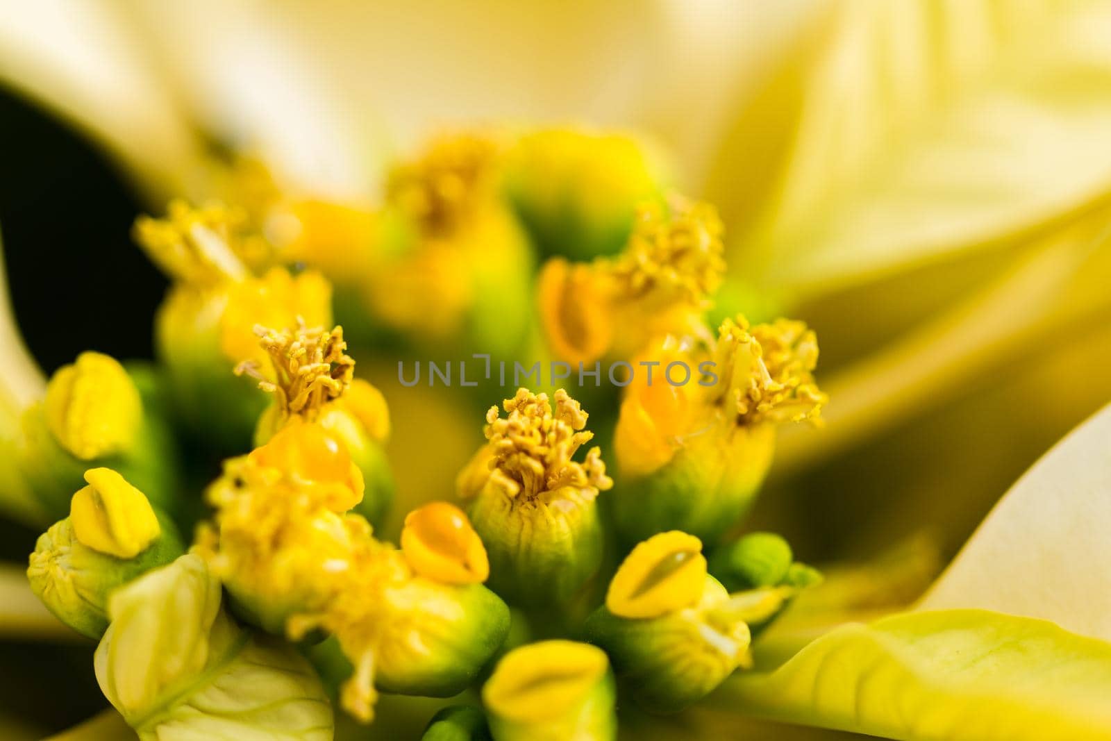
<path fill-rule="evenodd" d="M 1111 644 L 979 610 L 845 625 L 720 702 L 905 741 L 1111 739 Z"/>

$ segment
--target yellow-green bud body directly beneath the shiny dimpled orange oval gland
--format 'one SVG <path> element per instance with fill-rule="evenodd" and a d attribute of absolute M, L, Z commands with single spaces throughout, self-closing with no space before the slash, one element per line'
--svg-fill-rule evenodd
<path fill-rule="evenodd" d="M 383 692 L 448 698 L 467 689 L 509 633 L 509 608 L 481 584 L 414 578 L 392 588 L 374 654 Z"/>

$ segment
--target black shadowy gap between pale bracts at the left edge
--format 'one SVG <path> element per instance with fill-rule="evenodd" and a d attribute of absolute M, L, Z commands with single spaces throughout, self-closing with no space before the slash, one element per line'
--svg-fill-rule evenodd
<path fill-rule="evenodd" d="M 151 356 L 166 279 L 131 241 L 142 210 L 93 142 L 0 88 L 0 234 L 16 317 L 46 372 L 82 350 Z"/>

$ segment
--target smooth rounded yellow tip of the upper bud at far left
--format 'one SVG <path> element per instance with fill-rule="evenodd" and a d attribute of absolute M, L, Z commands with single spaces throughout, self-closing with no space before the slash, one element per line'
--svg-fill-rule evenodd
<path fill-rule="evenodd" d="M 142 422 L 142 401 L 119 362 L 82 352 L 50 379 L 46 412 L 61 447 L 87 461 L 131 447 Z"/>

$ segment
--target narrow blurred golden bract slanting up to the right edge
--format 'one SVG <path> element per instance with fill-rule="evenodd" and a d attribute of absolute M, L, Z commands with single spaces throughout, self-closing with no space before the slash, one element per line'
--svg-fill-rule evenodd
<path fill-rule="evenodd" d="M 1038 242 L 979 291 L 823 379 L 827 428 L 784 430 L 777 465 L 792 469 L 833 457 L 1008 363 L 1048 357 L 1055 343 L 1101 329 L 1111 314 L 1111 294 L 1103 289 L 1109 276 L 1104 214 Z"/>

